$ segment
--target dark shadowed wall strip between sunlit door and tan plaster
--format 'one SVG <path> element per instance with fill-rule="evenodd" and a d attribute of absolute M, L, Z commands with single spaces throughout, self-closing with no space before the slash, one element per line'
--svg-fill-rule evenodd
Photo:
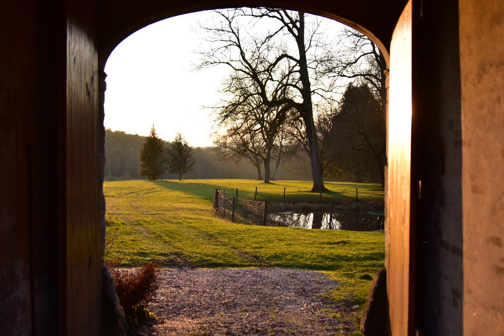
<path fill-rule="evenodd" d="M 415 326 L 462 328 L 462 150 L 458 4 L 417 3 L 413 35 L 414 167 L 417 191 Z M 416 181 L 418 184 L 418 181 Z"/>

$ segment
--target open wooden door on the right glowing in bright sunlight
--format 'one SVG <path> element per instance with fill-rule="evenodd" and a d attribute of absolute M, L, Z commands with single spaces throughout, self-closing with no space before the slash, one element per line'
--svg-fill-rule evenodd
<path fill-rule="evenodd" d="M 398 336 L 412 333 L 411 15 L 410 0 L 392 35 L 388 77 L 386 266 L 391 329 Z"/>

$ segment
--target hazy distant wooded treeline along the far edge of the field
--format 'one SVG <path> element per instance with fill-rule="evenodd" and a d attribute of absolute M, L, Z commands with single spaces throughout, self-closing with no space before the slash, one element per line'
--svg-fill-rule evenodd
<path fill-rule="evenodd" d="M 145 137 L 132 135 L 124 131 L 105 129 L 105 179 L 137 179 L 145 177 L 138 174 L 138 150 L 144 143 Z M 169 142 L 165 142 L 168 145 Z M 191 145 L 191 144 L 189 144 Z M 194 149 L 195 169 L 184 175 L 185 178 L 244 178 L 256 179 L 257 170 L 247 160 L 239 162 L 220 161 L 215 147 L 197 147 Z M 272 170 L 275 168 L 272 163 Z M 164 179 L 178 179 L 178 175 L 164 174 Z M 279 180 L 310 180 L 310 161 L 305 153 L 299 157 L 282 163 L 276 176 Z M 327 180 L 354 180 L 353 176 L 328 175 Z M 368 181 L 378 181 L 377 177 Z"/>

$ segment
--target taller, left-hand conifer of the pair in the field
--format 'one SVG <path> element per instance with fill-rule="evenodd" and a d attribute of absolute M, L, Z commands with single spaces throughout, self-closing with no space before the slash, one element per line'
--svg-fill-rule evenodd
<path fill-rule="evenodd" d="M 166 172 L 166 157 L 164 144 L 152 125 L 151 132 L 140 148 L 139 152 L 139 175 L 147 176 L 149 180 L 157 180 Z"/>

